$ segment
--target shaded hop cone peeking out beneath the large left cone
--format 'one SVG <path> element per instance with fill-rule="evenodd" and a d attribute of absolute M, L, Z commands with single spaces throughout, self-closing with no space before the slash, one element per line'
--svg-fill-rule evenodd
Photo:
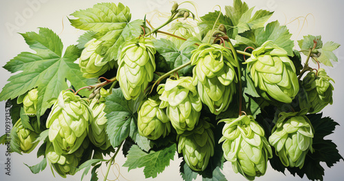
<path fill-rule="evenodd" d="M 72 154 L 58 154 L 56 153 L 52 142 L 47 142 L 47 148 L 45 149 L 45 156 L 49 160 L 52 167 L 61 175 L 61 177 L 66 178 L 66 175 L 74 175 L 76 169 L 78 169 L 78 164 L 80 158 L 83 156 L 83 152 L 87 149 L 89 141 L 85 139 L 83 144 Z"/>

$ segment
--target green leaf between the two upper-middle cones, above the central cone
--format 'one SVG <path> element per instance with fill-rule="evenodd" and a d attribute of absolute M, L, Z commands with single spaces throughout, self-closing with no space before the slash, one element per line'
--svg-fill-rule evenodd
<path fill-rule="evenodd" d="M 178 50 L 178 47 L 176 47 L 172 41 L 166 39 L 154 41 L 154 46 L 159 54 L 164 56 L 170 70 L 180 67 L 180 65 L 183 65 L 184 63 L 188 63 L 192 56 L 192 50 L 195 50 L 195 47 L 193 46 L 186 47 L 184 50 Z M 192 67 L 189 65 L 178 71 L 178 74 L 182 76 L 190 74 L 191 72 Z"/>

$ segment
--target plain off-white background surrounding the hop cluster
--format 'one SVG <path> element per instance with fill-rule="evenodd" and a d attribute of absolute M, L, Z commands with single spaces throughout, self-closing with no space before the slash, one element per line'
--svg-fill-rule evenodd
<path fill-rule="evenodd" d="M 35 2 L 35 3 L 32 3 Z M 37 3 L 38 2 L 38 3 Z M 79 9 L 92 8 L 95 3 L 100 1 L 96 0 L 77 0 L 77 1 L 52 1 L 52 0 L 1 0 L 0 1 L 0 65 L 3 66 L 7 61 L 10 61 L 11 58 L 17 56 L 20 52 L 32 51 L 25 44 L 22 36 L 16 32 L 28 32 L 34 31 L 38 32 L 39 27 L 46 27 L 54 30 L 57 34 L 60 35 L 65 47 L 67 45 L 72 45 L 76 43 L 78 36 L 83 33 L 83 31 L 76 30 L 67 21 L 67 16 Z M 118 1 L 114 1 L 118 3 Z M 170 1 L 167 0 L 145 0 L 145 1 L 128 1 L 122 0 L 126 6 L 129 6 L 132 13 L 133 19 L 143 19 L 144 14 L 147 14 L 148 19 L 151 19 L 153 16 L 154 10 L 160 10 L 161 12 L 169 12 L 171 8 Z M 270 21 L 279 20 L 281 24 L 287 24 L 290 32 L 294 34 L 292 40 L 301 39 L 303 35 L 321 34 L 323 37 L 324 43 L 326 41 L 334 41 L 344 45 L 344 25 L 343 25 L 343 5 L 344 1 L 283 1 L 283 0 L 263 0 L 263 1 L 246 1 L 249 7 L 256 6 L 255 10 L 264 8 L 266 10 L 275 11 L 274 15 Z M 30 6 L 31 4 L 31 6 Z M 34 6 L 32 6 L 34 4 Z M 222 12 L 224 12 L 224 6 L 232 5 L 232 1 L 197 1 L 197 10 L 200 16 L 206 14 L 206 12 L 213 11 L 215 5 L 220 5 L 222 7 Z M 191 8 L 191 7 L 190 7 Z M 217 8 L 215 8 L 217 10 Z M 309 14 L 307 22 L 303 25 L 304 17 Z M 295 21 L 292 21 L 298 18 Z M 155 17 L 151 19 L 155 27 L 164 21 L 164 18 L 158 19 Z M 161 21 L 160 21 L 161 20 Z M 64 28 L 62 25 L 64 24 Z M 302 26 L 303 25 L 303 26 Z M 12 26 L 14 29 L 8 28 Z M 301 28 L 302 27 L 302 28 Z M 296 47 L 299 49 L 299 47 Z M 336 50 L 336 55 L 338 56 L 338 63 L 334 63 L 334 67 L 325 68 L 328 74 L 334 78 L 336 83 L 334 84 L 334 103 L 323 109 L 324 116 L 330 116 L 336 122 L 341 125 L 343 124 L 343 59 L 344 52 L 343 47 L 339 47 Z M 0 70 L 0 88 L 2 88 L 6 83 L 7 79 L 10 77 L 10 74 L 6 70 Z M 5 102 L 0 103 L 0 134 L 3 135 L 5 131 Z M 344 127 L 336 127 L 336 131 L 331 136 L 328 136 L 327 139 L 332 139 L 338 145 L 338 150 L 341 155 L 344 155 Z M 5 175 L 4 164 L 5 161 L 5 151 L 6 147 L 0 147 L 0 180 L 63 180 L 63 178 L 56 175 L 56 178 L 53 178 L 53 175 L 50 169 L 47 167 L 45 171 L 39 174 L 32 174 L 30 170 L 25 167 L 23 162 L 33 165 L 38 163 L 40 160 L 36 159 L 36 150 L 32 153 L 24 156 L 19 156 L 17 153 L 13 153 L 11 156 L 12 160 L 12 171 L 11 176 Z M 179 164 L 180 159 L 175 156 L 173 162 L 171 162 L 170 167 L 168 167 L 163 173 L 158 175 L 155 179 L 147 180 L 182 180 L 179 173 Z M 116 163 L 119 165 L 120 176 L 119 180 L 144 180 L 143 169 L 135 169 L 132 171 L 127 171 L 126 167 L 122 167 L 122 164 L 125 162 L 122 154 L 118 154 L 116 158 Z M 322 164 L 325 168 L 326 165 Z M 102 167 L 103 172 L 105 173 L 105 167 Z M 343 180 L 343 171 L 344 164 L 343 160 L 338 164 L 335 164 L 332 169 L 325 169 L 325 178 L 324 180 Z M 288 172 L 288 171 L 286 171 Z M 241 175 L 235 174 L 228 162 L 226 162 L 223 173 L 226 175 L 228 180 L 245 180 Z M 100 180 L 103 180 L 100 171 Z M 118 171 L 114 169 L 109 174 L 109 180 L 115 180 L 118 175 Z M 74 176 L 67 176 L 67 179 L 64 180 L 80 180 L 80 173 L 77 173 Z M 90 175 L 87 175 L 84 180 L 89 180 Z M 201 180 L 197 178 L 197 180 Z M 266 175 L 256 180 L 307 180 L 307 178 L 293 177 L 289 173 L 286 173 L 286 176 L 282 173 L 274 171 L 271 169 L 270 165 Z"/>

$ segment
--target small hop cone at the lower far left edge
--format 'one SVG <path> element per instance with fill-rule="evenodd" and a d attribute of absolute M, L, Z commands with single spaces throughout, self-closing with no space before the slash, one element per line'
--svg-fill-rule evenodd
<path fill-rule="evenodd" d="M 15 131 L 19 137 L 19 142 L 17 142 L 17 144 L 19 144 L 20 150 L 23 151 L 23 153 L 30 153 L 39 143 L 34 142 L 38 135 L 34 131 L 23 127 L 20 118 L 17 120 L 17 123 L 14 124 L 14 129 L 12 130 Z"/>

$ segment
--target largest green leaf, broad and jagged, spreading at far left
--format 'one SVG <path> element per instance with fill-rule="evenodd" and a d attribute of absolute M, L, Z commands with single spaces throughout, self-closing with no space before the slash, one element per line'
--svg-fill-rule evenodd
<path fill-rule="evenodd" d="M 62 56 L 63 44 L 52 30 L 40 28 L 39 34 L 27 32 L 21 35 L 36 54 L 22 52 L 4 66 L 12 73 L 21 72 L 8 79 L 10 83 L 3 87 L 0 100 L 16 98 L 38 87 L 37 114 L 43 115 L 45 110 L 52 106 L 50 100 L 69 88 L 67 81 L 76 88 L 87 86 L 87 79 L 83 78 L 78 64 L 74 63 L 80 56 L 76 45 L 67 47 Z M 80 94 L 88 93 L 81 91 Z"/>

